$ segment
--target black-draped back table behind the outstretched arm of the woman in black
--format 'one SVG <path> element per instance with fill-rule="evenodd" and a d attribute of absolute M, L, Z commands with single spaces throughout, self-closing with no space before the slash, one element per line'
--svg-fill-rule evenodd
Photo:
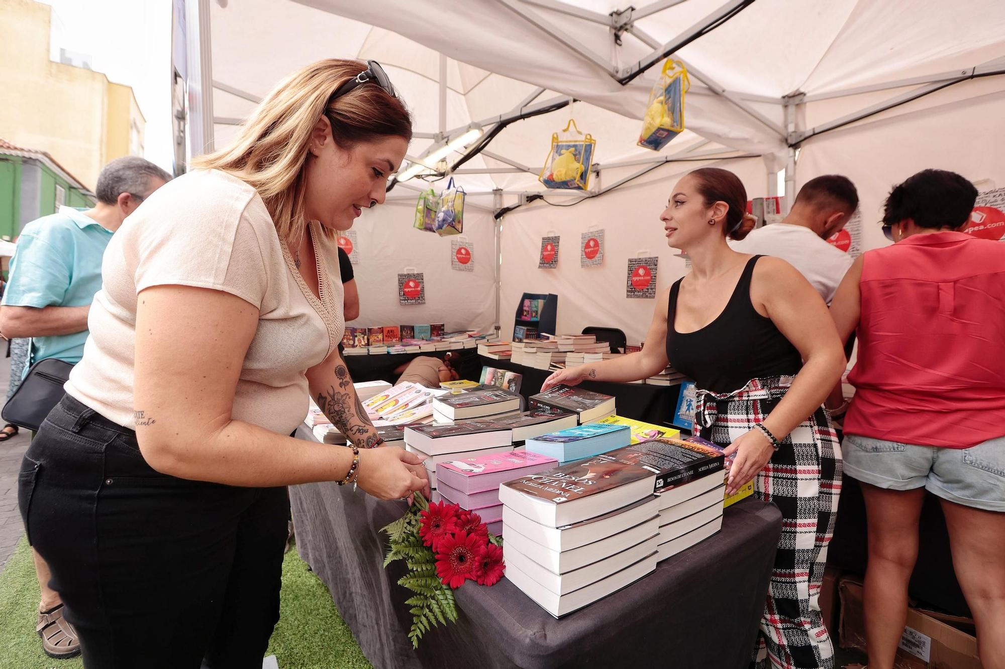
<path fill-rule="evenodd" d="M 492 360 L 484 356 L 479 356 L 478 360 L 480 366 L 523 374 L 524 382 L 520 388 L 520 394 L 525 398 L 540 393 L 545 379 L 553 374 L 553 372 L 546 370 L 517 365 L 509 360 Z M 671 424 L 673 413 L 677 407 L 677 396 L 680 394 L 679 383 L 673 386 L 655 386 L 652 384 L 584 381 L 579 385 L 579 388 L 610 395 L 617 399 L 618 416 L 645 421 L 653 425 Z"/>

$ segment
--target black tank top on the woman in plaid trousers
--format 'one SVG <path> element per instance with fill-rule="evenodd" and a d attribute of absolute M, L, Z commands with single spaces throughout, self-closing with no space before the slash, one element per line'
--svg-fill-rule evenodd
<path fill-rule="evenodd" d="M 723 312 L 693 332 L 673 329 L 680 280 L 670 288 L 666 358 L 673 369 L 693 379 L 701 390 L 732 393 L 751 379 L 792 376 L 803 366 L 796 348 L 751 302 L 751 277 L 760 257 L 755 255 L 744 267 Z"/>

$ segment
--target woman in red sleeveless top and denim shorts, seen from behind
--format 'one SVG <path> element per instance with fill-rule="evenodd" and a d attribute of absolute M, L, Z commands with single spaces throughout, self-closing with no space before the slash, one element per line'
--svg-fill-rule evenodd
<path fill-rule="evenodd" d="M 1005 245 L 962 232 L 977 189 L 925 170 L 894 187 L 894 242 L 851 266 L 831 311 L 858 334 L 845 471 L 868 524 L 869 669 L 889 669 L 908 615 L 925 490 L 941 499 L 981 662 L 1005 667 Z"/>

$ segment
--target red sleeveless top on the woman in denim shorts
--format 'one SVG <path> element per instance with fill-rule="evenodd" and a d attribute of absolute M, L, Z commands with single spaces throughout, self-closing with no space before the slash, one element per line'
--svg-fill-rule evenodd
<path fill-rule="evenodd" d="M 865 253 L 847 434 L 968 448 L 1005 435 L 1005 243 L 914 235 Z"/>

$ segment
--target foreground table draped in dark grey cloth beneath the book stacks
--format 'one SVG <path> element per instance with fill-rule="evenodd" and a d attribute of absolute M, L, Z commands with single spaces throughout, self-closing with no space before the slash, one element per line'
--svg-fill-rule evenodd
<path fill-rule="evenodd" d="M 311 439 L 301 426 L 297 436 Z M 456 624 L 407 638 L 410 593 L 401 562 L 381 567 L 380 527 L 403 501 L 379 501 L 336 483 L 290 486 L 296 548 L 328 586 L 375 667 L 629 667 L 742 669 L 748 666 L 781 532 L 777 507 L 746 499 L 717 535 L 665 560 L 631 586 L 561 620 L 504 579 L 454 591 Z M 504 540 L 506 536 L 504 535 Z"/>

